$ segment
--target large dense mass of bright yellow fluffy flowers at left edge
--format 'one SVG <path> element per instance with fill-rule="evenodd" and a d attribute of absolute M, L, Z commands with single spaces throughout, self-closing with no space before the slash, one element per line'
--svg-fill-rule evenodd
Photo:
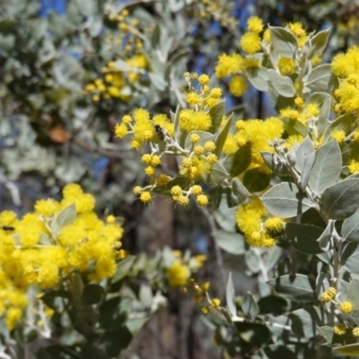
<path fill-rule="evenodd" d="M 113 276 L 123 229 L 116 218 L 102 222 L 93 212 L 95 199 L 77 184 L 63 190 L 63 199 L 40 199 L 22 219 L 0 213 L 0 315 L 13 328 L 27 305 L 31 285 L 40 290 L 62 285 L 71 273 L 100 282 Z"/>

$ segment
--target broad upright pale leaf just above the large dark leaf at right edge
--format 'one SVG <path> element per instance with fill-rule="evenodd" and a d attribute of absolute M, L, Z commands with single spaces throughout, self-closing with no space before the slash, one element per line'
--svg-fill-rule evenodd
<path fill-rule="evenodd" d="M 317 193 L 334 185 L 342 169 L 342 155 L 336 140 L 322 145 L 315 153 L 315 162 L 311 169 L 309 185 Z"/>

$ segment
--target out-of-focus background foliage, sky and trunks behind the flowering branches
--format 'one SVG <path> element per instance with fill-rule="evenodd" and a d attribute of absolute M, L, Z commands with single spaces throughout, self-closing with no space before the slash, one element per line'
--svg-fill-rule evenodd
<path fill-rule="evenodd" d="M 324 62 L 359 35 L 358 7 L 346 0 L 0 1 L 0 210 L 21 216 L 76 182 L 96 197 L 99 215 L 123 218 L 131 254 L 190 249 L 207 256 L 199 278 L 211 282 L 214 296 L 223 298 L 230 271 L 237 293 L 258 292 L 258 268 L 248 266 L 244 249 L 223 254 L 211 238 L 218 224 L 209 212 L 162 196 L 150 206 L 136 200 L 132 188 L 146 180 L 142 153 L 113 135 L 138 107 L 169 114 L 183 103 L 185 71 L 210 74 L 225 88 L 214 76 L 217 57 L 239 51 L 252 15 L 271 25 L 302 22 L 308 32 L 330 28 Z M 242 98 L 228 93 L 226 109 L 241 118 L 274 113 L 252 88 Z M 166 158 L 163 170 L 176 173 L 175 159 Z M 230 212 L 220 207 L 215 219 L 235 231 Z M 191 297 L 165 295 L 168 308 L 121 357 L 221 357 Z"/>

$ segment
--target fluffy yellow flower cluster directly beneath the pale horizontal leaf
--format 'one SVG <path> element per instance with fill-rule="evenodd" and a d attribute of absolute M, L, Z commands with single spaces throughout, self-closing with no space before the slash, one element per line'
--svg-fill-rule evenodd
<path fill-rule="evenodd" d="M 273 236 L 285 228 L 285 219 L 269 215 L 258 197 L 251 197 L 239 206 L 235 220 L 252 247 L 273 247 L 276 244 Z"/>

